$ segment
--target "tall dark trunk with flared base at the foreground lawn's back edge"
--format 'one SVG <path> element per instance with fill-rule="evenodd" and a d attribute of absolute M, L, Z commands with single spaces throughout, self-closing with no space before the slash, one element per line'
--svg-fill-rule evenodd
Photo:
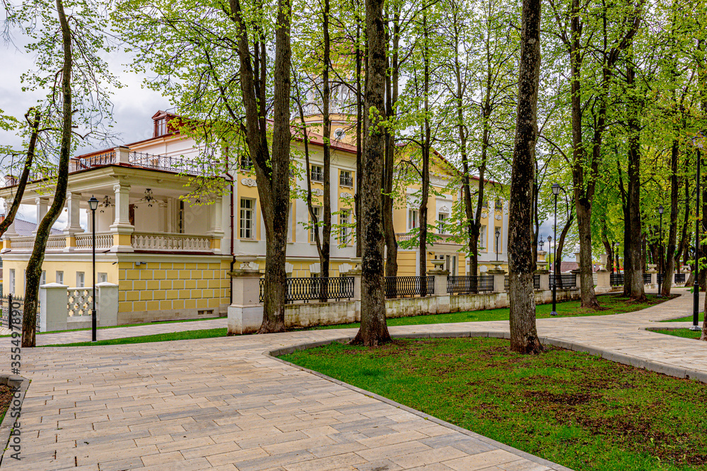
<path fill-rule="evenodd" d="M 366 67 L 365 109 L 368 114 L 366 141 L 363 146 L 361 174 L 361 215 L 363 219 L 361 270 L 361 328 L 353 345 L 368 347 L 390 342 L 385 323 L 385 287 L 383 268 L 384 239 L 382 232 L 382 198 L 380 194 L 382 164 L 385 159 L 385 32 L 383 0 L 366 0 Z"/>

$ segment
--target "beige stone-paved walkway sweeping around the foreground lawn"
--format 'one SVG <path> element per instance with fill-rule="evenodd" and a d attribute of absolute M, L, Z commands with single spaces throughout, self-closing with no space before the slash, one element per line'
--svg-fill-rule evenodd
<path fill-rule="evenodd" d="M 691 299 L 683 296 L 632 314 L 541 319 L 538 328 L 554 342 L 577 342 L 636 362 L 707 374 L 706 344 L 641 330 L 652 321 L 684 316 L 689 309 Z M 139 329 L 187 324 L 197 323 L 101 332 L 143 335 Z M 502 336 L 508 322 L 390 330 L 401 336 Z M 264 354 L 355 333 L 310 330 L 25 349 L 23 375 L 32 383 L 23 405 L 23 460 L 6 457 L 3 469 L 566 469 Z M 64 334 L 38 338 L 56 343 L 59 335 Z M 2 340 L 0 345 L 8 348 L 8 340 Z"/>

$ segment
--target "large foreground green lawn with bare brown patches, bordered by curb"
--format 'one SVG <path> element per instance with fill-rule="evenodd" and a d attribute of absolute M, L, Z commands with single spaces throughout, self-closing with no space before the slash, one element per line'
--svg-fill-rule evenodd
<path fill-rule="evenodd" d="M 282 359 L 574 470 L 707 470 L 707 385 L 492 338 L 338 343 Z"/>

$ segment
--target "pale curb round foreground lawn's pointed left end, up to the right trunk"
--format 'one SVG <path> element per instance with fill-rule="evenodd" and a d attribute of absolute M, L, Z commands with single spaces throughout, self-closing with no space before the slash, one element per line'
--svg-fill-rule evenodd
<path fill-rule="evenodd" d="M 457 332 L 445 332 L 445 333 L 428 333 L 428 334 L 424 334 L 424 333 L 411 333 L 408 335 L 396 334 L 396 335 L 390 335 L 390 336 L 392 338 L 460 338 L 460 337 L 510 338 L 510 334 L 507 334 L 507 333 L 499 333 L 499 332 L 495 332 L 495 331 L 470 332 L 468 330 L 460 330 Z M 354 391 L 356 391 L 356 393 L 366 395 L 369 398 L 373 398 L 375 400 L 380 400 L 382 403 L 386 403 L 388 405 L 392 405 L 393 407 L 397 407 L 398 409 L 402 409 L 406 412 L 410 412 L 413 415 L 416 415 L 418 417 L 421 417 L 423 419 L 426 419 L 430 422 L 441 425 L 441 426 L 446 427 L 448 429 L 457 431 L 460 434 L 464 434 L 469 437 L 472 437 L 473 439 L 477 439 L 479 441 L 483 441 L 484 443 L 488 443 L 489 445 L 495 446 L 496 448 L 499 448 L 503 451 L 508 451 L 508 453 L 513 453 L 514 455 L 517 455 L 519 458 L 525 458 L 528 461 L 532 461 L 532 463 L 537 463 L 539 465 L 547 466 L 547 467 L 551 468 L 552 470 L 556 470 L 556 471 L 573 471 L 569 467 L 558 465 L 557 463 L 553 463 L 549 460 L 545 460 L 544 458 L 539 458 L 535 455 L 531 455 L 530 453 L 526 453 L 525 451 L 518 450 L 518 448 L 513 448 L 512 446 L 508 446 L 505 443 L 501 443 L 499 441 L 489 439 L 486 436 L 479 435 L 479 434 L 477 434 L 473 431 L 467 430 L 467 429 L 462 429 L 462 427 L 458 427 L 455 424 L 450 424 L 449 422 L 445 422 L 444 420 L 438 419 L 437 417 L 433 417 L 431 415 L 425 414 L 424 412 L 420 412 L 419 410 L 415 410 L 415 409 L 412 409 L 411 407 L 407 407 L 407 405 L 402 405 L 400 403 L 396 403 L 394 400 L 384 398 L 382 395 L 371 393 L 368 390 L 357 388 L 356 386 L 351 386 L 351 384 L 349 384 L 349 383 L 344 383 L 343 381 L 339 381 L 338 379 L 334 379 L 334 378 L 327 376 L 325 374 L 321 374 L 317 371 L 313 371 L 311 369 L 287 362 L 284 359 L 279 359 L 278 357 L 276 357 L 276 355 L 289 354 L 289 353 L 296 352 L 299 350 L 307 350 L 308 348 L 322 347 L 324 345 L 329 345 L 334 342 L 341 342 L 341 343 L 349 342 L 352 339 L 353 339 L 353 337 L 351 337 L 351 336 L 342 336 L 341 338 L 336 338 L 336 339 L 332 339 L 332 340 L 320 340 L 317 342 L 307 342 L 307 343 L 302 343 L 302 344 L 298 344 L 298 345 L 293 345 L 291 347 L 284 347 L 284 348 L 281 348 L 278 350 L 272 350 L 270 352 L 263 352 L 263 355 L 266 357 L 271 357 L 278 362 L 281 362 L 281 363 L 286 364 L 288 366 L 292 366 L 293 368 L 299 369 L 301 371 L 306 371 L 307 373 L 310 373 L 310 374 L 313 374 L 313 375 L 318 376 L 320 378 L 323 378 L 323 379 L 330 381 L 334 384 L 337 384 L 339 386 L 343 386 L 344 388 L 354 390 Z"/>

